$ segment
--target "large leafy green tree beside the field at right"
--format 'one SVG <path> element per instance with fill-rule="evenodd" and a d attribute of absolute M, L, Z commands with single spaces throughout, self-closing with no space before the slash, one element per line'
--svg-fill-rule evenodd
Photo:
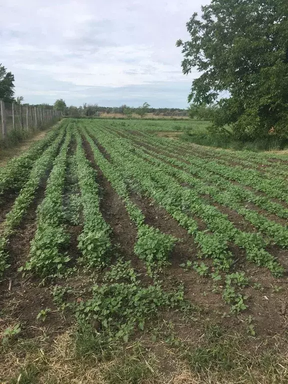
<path fill-rule="evenodd" d="M 288 137 L 288 1 L 211 0 L 178 40 L 183 73 L 193 67 L 188 100 L 217 102 L 214 126 L 241 138 Z M 225 97 L 222 97 L 225 95 Z"/>

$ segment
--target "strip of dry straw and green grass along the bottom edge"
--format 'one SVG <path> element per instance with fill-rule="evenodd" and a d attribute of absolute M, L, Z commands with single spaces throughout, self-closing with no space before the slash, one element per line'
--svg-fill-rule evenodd
<path fill-rule="evenodd" d="M 181 337 L 181 326 L 162 321 L 154 324 L 153 332 L 126 343 L 89 326 L 74 326 L 52 338 L 43 327 L 34 339 L 2 343 L 0 380 L 7 384 L 287 382 L 287 338 L 274 336 L 273 346 L 262 348 L 263 340 L 218 325 L 198 324 L 197 337 Z"/>

